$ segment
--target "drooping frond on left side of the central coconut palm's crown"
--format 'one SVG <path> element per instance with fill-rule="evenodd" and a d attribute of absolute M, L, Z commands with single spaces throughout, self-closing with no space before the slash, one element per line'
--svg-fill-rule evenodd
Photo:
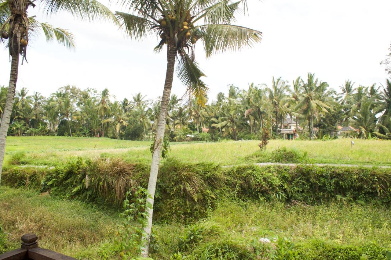
<path fill-rule="evenodd" d="M 154 25 L 152 21 L 147 20 L 133 14 L 126 12 L 115 12 L 116 19 L 120 28 L 125 28 L 126 33 L 136 40 L 141 40 L 143 37 L 151 35 L 151 26 Z"/>

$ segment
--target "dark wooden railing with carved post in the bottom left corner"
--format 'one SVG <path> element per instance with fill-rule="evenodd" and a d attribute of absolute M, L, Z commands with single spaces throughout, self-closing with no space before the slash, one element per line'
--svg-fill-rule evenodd
<path fill-rule="evenodd" d="M 39 248 L 38 237 L 35 234 L 22 236 L 22 246 L 19 249 L 0 255 L 0 260 L 74 260 L 76 258 L 56 253 L 52 250 Z"/>

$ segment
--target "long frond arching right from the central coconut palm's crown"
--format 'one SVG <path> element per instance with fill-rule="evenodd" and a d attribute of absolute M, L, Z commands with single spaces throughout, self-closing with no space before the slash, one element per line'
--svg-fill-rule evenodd
<path fill-rule="evenodd" d="M 262 39 L 262 32 L 237 25 L 213 24 L 199 28 L 203 32 L 201 39 L 204 41 L 206 57 L 216 52 L 251 47 Z"/>

